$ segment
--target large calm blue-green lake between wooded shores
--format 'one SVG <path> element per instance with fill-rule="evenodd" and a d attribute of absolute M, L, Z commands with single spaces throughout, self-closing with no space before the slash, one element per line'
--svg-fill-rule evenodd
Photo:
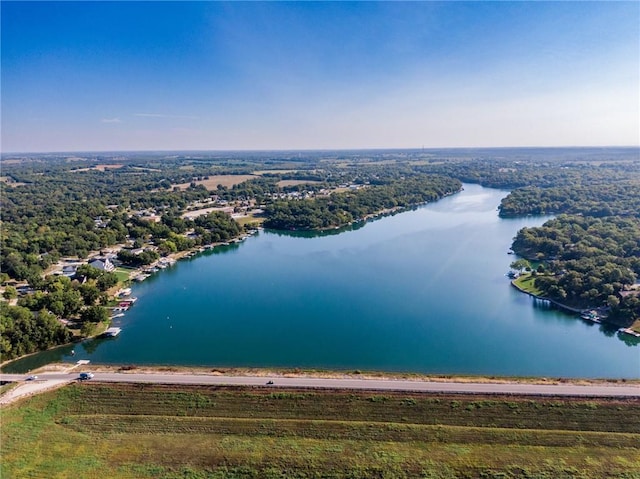
<path fill-rule="evenodd" d="M 114 339 L 5 368 L 61 360 L 545 377 L 640 377 L 640 349 L 519 293 L 505 277 L 524 226 L 508 192 L 464 190 L 340 231 L 261 231 L 133 286 Z"/>

